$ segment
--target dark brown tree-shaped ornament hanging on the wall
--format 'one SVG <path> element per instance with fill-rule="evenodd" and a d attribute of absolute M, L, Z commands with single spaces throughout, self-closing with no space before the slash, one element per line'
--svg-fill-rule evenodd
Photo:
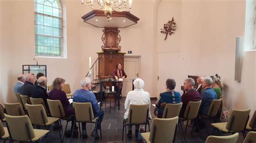
<path fill-rule="evenodd" d="M 161 33 L 165 34 L 165 39 L 167 38 L 167 35 L 171 35 L 173 33 L 175 33 L 174 31 L 176 31 L 178 28 L 176 22 L 174 21 L 174 18 L 172 17 L 172 20 L 169 20 L 169 22 L 167 22 L 166 24 L 164 24 L 164 28 L 161 28 Z"/>

